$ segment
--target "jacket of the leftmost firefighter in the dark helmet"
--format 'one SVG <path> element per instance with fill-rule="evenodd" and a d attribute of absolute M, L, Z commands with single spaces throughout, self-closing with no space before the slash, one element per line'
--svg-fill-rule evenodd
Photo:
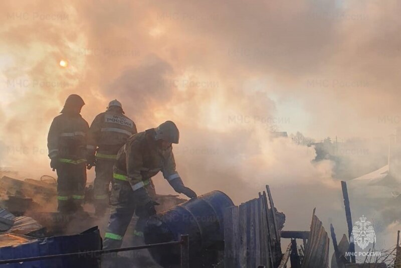
<path fill-rule="evenodd" d="M 48 135 L 49 158 L 70 164 L 86 162 L 88 130 L 88 122 L 78 113 L 62 113 L 55 117 Z"/>

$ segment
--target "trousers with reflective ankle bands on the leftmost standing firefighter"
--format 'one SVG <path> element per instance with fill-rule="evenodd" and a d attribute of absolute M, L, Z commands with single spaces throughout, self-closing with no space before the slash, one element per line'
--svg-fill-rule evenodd
<path fill-rule="evenodd" d="M 82 210 L 85 198 L 86 161 L 60 159 L 57 166 L 58 211 Z"/>

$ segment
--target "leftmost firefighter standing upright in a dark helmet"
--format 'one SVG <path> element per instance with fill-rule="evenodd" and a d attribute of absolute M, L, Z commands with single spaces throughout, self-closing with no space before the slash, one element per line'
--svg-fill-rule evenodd
<path fill-rule="evenodd" d="M 84 100 L 67 97 L 61 114 L 53 119 L 48 135 L 50 167 L 57 171 L 58 211 L 82 211 L 86 184 L 88 122 L 80 112 Z"/>

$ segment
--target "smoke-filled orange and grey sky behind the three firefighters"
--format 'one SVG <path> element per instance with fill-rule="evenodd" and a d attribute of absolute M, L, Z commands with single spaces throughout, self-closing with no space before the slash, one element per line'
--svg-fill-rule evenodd
<path fill-rule="evenodd" d="M 387 139 L 401 120 L 400 7 L 397 0 L 2 2 L 0 164 L 54 175 L 46 137 L 65 98 L 84 98 L 89 123 L 117 98 L 139 131 L 176 122 L 177 168 L 196 192 L 220 189 L 239 203 L 270 184 L 289 227 L 308 228 L 314 206 L 343 217 L 333 163 L 312 165 L 310 148 L 271 141 L 269 125 L 316 139 Z M 156 186 L 172 193 L 162 180 Z"/>

